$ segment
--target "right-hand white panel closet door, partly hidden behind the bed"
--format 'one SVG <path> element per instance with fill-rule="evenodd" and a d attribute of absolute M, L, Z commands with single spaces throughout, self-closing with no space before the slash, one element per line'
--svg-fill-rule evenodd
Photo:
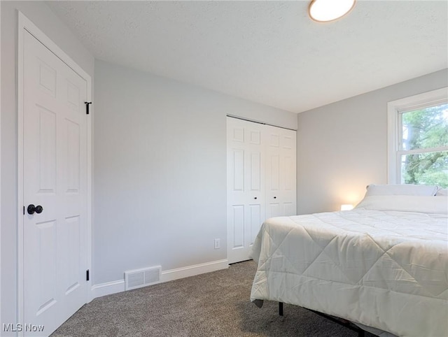
<path fill-rule="evenodd" d="M 266 219 L 297 213 L 296 132 L 265 125 Z"/>

